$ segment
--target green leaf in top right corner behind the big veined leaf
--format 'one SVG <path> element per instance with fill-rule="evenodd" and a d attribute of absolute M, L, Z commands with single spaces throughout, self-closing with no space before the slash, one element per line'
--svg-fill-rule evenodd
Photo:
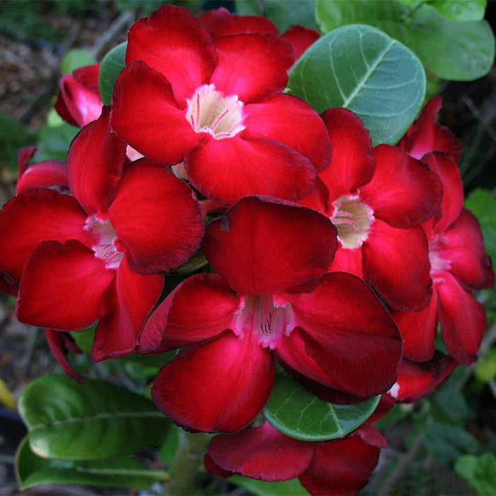
<path fill-rule="evenodd" d="M 486 21 L 450 21 L 428 4 L 412 9 L 396 1 L 320 0 L 316 16 L 325 33 L 346 24 L 375 26 L 410 47 L 443 79 L 483 77 L 495 58 L 495 37 Z"/>

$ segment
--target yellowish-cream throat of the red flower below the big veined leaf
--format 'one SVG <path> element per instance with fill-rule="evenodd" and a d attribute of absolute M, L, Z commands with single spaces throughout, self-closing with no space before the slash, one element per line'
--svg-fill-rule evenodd
<path fill-rule="evenodd" d="M 337 229 L 337 239 L 343 248 L 361 247 L 367 239 L 374 221 L 373 210 L 360 199 L 360 196 L 343 195 L 334 203 L 331 221 Z"/>

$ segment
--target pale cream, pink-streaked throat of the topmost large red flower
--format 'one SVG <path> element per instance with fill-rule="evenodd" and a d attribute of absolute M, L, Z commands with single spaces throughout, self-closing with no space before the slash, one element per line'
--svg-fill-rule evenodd
<path fill-rule="evenodd" d="M 244 130 L 244 105 L 236 95 L 225 96 L 213 84 L 204 84 L 186 102 L 186 120 L 196 133 L 223 140 Z"/>

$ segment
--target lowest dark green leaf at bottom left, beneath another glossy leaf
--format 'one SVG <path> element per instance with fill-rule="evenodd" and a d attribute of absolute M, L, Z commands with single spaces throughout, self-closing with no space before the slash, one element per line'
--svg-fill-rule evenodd
<path fill-rule="evenodd" d="M 150 487 L 169 479 L 164 470 L 150 470 L 133 458 L 91 461 L 41 458 L 31 451 L 29 436 L 19 446 L 16 470 L 21 490 L 42 484 L 88 484 L 111 487 Z"/>

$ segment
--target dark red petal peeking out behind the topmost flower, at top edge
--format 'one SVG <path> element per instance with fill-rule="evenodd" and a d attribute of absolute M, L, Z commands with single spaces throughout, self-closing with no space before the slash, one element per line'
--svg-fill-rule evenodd
<path fill-rule="evenodd" d="M 272 21 L 261 16 L 235 16 L 224 7 L 206 11 L 200 20 L 210 31 L 212 38 L 241 33 L 274 33 L 278 30 Z"/>

